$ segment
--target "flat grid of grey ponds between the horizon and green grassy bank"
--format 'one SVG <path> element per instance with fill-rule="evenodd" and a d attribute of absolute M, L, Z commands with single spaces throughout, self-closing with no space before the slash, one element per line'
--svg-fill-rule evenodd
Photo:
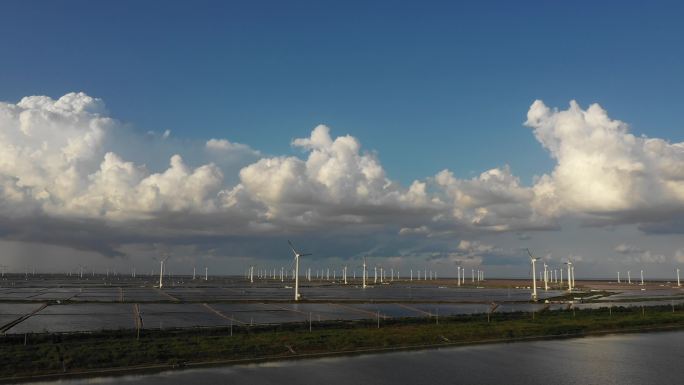
<path fill-rule="evenodd" d="M 548 291 L 540 284 L 537 303 L 530 302 L 529 281 L 523 280 L 457 285 L 454 279 L 404 279 L 365 289 L 360 280 L 303 280 L 299 303 L 292 301 L 288 280 L 174 277 L 165 282 L 159 289 L 153 276 L 9 275 L 0 281 L 0 332 L 175 330 L 684 303 L 684 290 L 667 282 L 577 281 L 572 294 L 560 284 Z"/>

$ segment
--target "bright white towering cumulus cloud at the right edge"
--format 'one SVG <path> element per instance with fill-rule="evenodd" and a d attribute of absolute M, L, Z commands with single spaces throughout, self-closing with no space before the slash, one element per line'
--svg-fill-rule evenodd
<path fill-rule="evenodd" d="M 684 143 L 637 137 L 598 104 L 575 101 L 559 111 L 537 100 L 525 124 L 557 162 L 534 186 L 538 211 L 640 222 L 684 208 Z"/>

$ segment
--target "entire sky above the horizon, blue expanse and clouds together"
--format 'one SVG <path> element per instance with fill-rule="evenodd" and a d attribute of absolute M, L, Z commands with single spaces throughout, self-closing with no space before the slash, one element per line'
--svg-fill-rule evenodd
<path fill-rule="evenodd" d="M 684 264 L 679 2 L 6 1 L 0 264 Z M 584 265 L 584 266 L 582 266 Z M 624 274 L 624 273 L 623 273 Z"/>

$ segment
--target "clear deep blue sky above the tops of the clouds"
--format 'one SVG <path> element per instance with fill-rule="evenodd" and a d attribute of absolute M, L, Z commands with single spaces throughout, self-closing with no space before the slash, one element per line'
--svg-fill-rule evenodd
<path fill-rule="evenodd" d="M 535 99 L 598 102 L 680 141 L 681 3 L 3 4 L 0 100 L 84 91 L 117 119 L 266 153 L 324 123 L 403 183 L 443 168 L 552 164 L 522 127 Z"/>

